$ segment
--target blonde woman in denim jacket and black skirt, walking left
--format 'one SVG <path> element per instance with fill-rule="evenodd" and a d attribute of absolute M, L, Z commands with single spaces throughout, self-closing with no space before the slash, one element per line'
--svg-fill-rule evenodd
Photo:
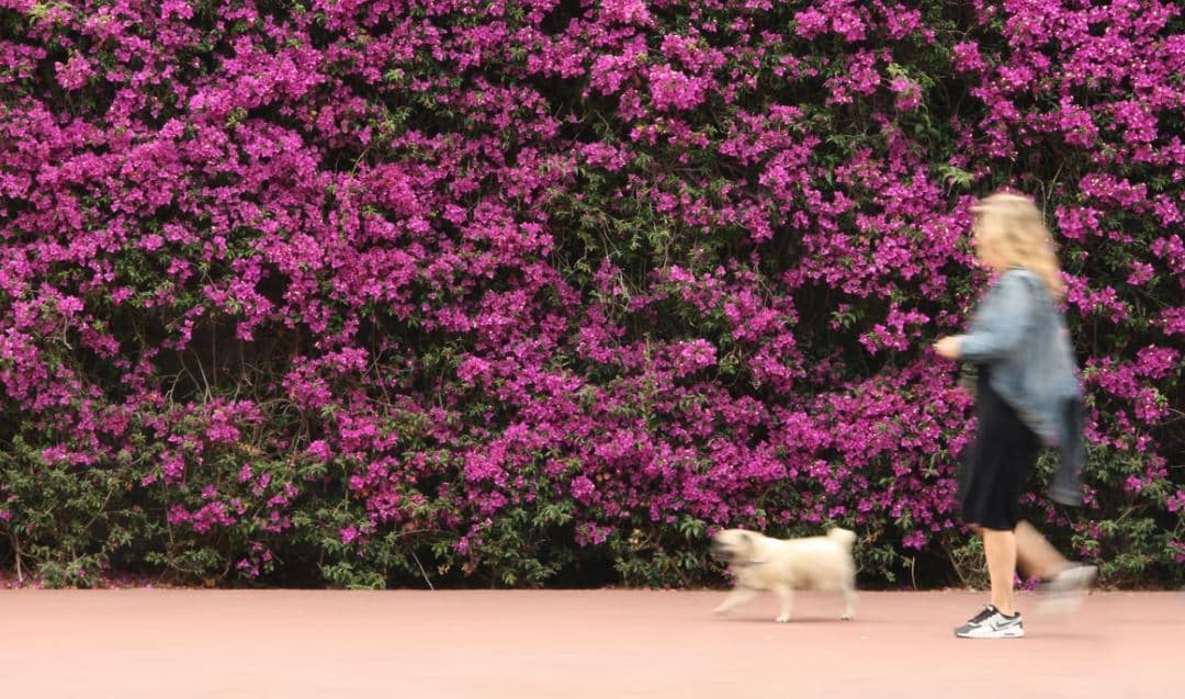
<path fill-rule="evenodd" d="M 1025 635 L 1012 583 L 1023 572 L 1043 590 L 1080 596 L 1094 566 L 1072 564 L 1026 521 L 1017 506 L 1043 445 L 1056 445 L 1062 464 L 1050 495 L 1081 504 L 1083 462 L 1081 391 L 1065 321 L 1053 242 L 1032 200 L 997 193 L 972 209 L 972 242 L 994 281 L 975 310 L 971 332 L 942 338 L 935 351 L 978 367 L 975 441 L 959 479 L 963 520 L 984 538 L 992 601 L 955 629 L 962 639 Z"/>

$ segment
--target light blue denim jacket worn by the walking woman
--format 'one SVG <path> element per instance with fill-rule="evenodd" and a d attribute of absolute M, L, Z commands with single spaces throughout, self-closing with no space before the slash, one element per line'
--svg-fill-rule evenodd
<path fill-rule="evenodd" d="M 1046 447 L 1061 451 L 1049 495 L 1082 504 L 1082 389 L 1065 319 L 1040 277 L 1013 268 L 988 288 L 960 355 L 991 366 L 992 387 Z"/>

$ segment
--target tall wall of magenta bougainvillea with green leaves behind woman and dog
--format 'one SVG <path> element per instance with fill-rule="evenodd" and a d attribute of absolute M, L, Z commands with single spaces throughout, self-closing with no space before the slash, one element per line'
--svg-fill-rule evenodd
<path fill-rule="evenodd" d="M 929 345 L 1013 187 L 1090 409 L 1027 507 L 1181 584 L 1183 75 L 1172 1 L 0 0 L 0 567 L 696 585 L 843 524 L 973 583 Z"/>

